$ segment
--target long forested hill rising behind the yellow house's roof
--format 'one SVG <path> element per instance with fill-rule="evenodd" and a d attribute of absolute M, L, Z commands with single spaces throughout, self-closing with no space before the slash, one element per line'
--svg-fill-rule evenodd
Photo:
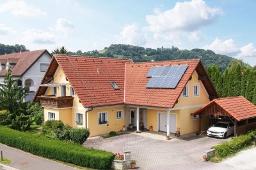
<path fill-rule="evenodd" d="M 115 57 L 120 59 L 132 59 L 134 62 L 145 62 L 150 60 L 180 60 L 180 59 L 201 59 L 205 67 L 215 64 L 225 71 L 226 67 L 233 59 L 227 55 L 220 55 L 211 50 L 193 49 L 193 50 L 179 50 L 179 48 L 172 46 L 172 48 L 144 48 L 141 46 L 114 44 L 105 47 L 104 50 L 93 50 L 89 52 L 67 52 L 71 55 L 84 55 L 95 57 Z"/>

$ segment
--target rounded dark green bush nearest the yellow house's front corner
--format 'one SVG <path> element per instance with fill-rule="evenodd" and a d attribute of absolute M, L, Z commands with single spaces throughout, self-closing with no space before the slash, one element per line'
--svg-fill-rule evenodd
<path fill-rule="evenodd" d="M 83 144 L 84 141 L 90 136 L 90 131 L 85 128 L 71 128 L 69 136 L 74 143 Z"/>

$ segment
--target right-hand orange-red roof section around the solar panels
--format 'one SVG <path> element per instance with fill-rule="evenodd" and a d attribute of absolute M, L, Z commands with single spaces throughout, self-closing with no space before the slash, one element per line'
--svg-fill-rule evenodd
<path fill-rule="evenodd" d="M 152 66 L 174 66 L 188 65 L 188 69 L 183 74 L 175 89 L 148 89 L 146 85 L 150 78 L 146 75 Z M 218 97 L 211 80 L 206 73 L 202 62 L 199 59 L 193 60 L 169 60 L 162 62 L 138 62 L 126 64 L 125 69 L 125 103 L 142 106 L 157 106 L 173 108 L 188 83 L 192 74 L 196 70 L 198 76 L 204 76 L 202 83 L 206 87 L 209 96 Z"/>

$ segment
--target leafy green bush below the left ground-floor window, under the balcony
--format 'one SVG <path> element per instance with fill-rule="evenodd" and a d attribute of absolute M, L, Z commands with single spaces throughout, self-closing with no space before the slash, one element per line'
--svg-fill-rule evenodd
<path fill-rule="evenodd" d="M 63 129 L 64 124 L 60 120 L 47 120 L 44 124 L 42 124 L 41 133 L 42 134 L 52 134 L 52 132 L 56 132 L 58 129 Z"/>

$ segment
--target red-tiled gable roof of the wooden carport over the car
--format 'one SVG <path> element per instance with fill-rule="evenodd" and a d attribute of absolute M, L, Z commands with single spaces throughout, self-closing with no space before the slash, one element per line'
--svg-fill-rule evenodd
<path fill-rule="evenodd" d="M 199 110 L 192 113 L 192 115 L 198 115 L 207 109 L 211 110 L 211 107 L 214 106 L 214 104 L 217 104 L 220 106 L 220 108 L 227 111 L 227 113 L 234 117 L 237 121 L 256 117 L 256 106 L 250 103 L 250 101 L 243 96 L 214 99 Z M 217 113 L 218 111 L 220 110 L 215 110 L 213 112 Z"/>

